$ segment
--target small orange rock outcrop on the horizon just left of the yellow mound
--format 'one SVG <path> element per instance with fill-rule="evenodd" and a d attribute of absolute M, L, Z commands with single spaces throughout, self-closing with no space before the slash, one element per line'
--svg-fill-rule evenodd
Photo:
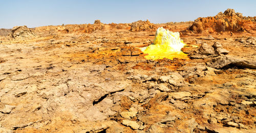
<path fill-rule="evenodd" d="M 131 24 L 131 31 L 132 32 L 139 32 L 139 31 L 150 31 L 156 29 L 156 26 L 154 23 L 151 23 L 150 21 L 136 21 Z"/>

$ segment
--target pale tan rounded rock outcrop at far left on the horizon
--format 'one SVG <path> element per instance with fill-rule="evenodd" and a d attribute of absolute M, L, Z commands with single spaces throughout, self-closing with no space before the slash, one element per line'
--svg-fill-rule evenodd
<path fill-rule="evenodd" d="M 11 38 L 32 38 L 36 37 L 34 30 L 24 26 L 14 26 L 10 34 Z"/>

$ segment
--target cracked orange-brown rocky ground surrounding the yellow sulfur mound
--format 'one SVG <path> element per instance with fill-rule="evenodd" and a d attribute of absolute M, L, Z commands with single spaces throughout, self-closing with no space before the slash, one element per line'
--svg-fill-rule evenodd
<path fill-rule="evenodd" d="M 146 60 L 157 28 L 188 59 Z M 198 46 L 198 47 L 195 47 Z M 255 132 L 256 22 L 0 29 L 0 132 Z M 177 55 L 178 56 L 178 55 Z"/>

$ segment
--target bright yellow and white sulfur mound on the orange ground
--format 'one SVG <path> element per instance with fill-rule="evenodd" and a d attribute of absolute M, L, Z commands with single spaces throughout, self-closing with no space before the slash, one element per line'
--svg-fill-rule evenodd
<path fill-rule="evenodd" d="M 180 39 L 179 32 L 170 32 L 161 27 L 157 29 L 154 44 L 140 49 L 144 54 L 148 54 L 145 56 L 148 60 L 163 58 L 170 60 L 173 60 L 174 58 L 187 59 L 187 55 L 181 51 L 181 48 L 185 45 L 183 40 Z"/>

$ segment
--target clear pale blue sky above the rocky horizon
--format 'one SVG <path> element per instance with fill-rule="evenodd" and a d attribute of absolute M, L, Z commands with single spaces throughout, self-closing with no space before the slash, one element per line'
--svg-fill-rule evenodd
<path fill-rule="evenodd" d="M 0 0 L 0 28 L 27 25 L 93 23 L 130 23 L 150 20 L 154 23 L 194 21 L 198 17 L 215 16 L 232 8 L 244 16 L 256 16 L 256 0 Z"/>

